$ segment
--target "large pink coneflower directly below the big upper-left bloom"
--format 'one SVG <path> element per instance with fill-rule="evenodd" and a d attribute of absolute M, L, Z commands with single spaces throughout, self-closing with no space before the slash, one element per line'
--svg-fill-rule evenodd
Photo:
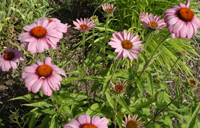
<path fill-rule="evenodd" d="M 37 93 L 41 88 L 42 92 L 51 96 L 53 90 L 59 90 L 61 74 L 66 77 L 65 71 L 51 63 L 51 58 L 47 57 L 43 62 L 37 61 L 36 64 L 24 68 L 22 78 L 28 91 Z"/>

